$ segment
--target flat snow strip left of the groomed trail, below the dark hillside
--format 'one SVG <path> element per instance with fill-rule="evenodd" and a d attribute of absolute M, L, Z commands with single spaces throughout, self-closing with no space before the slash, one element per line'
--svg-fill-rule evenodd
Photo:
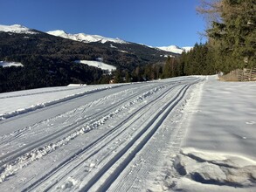
<path fill-rule="evenodd" d="M 66 86 L 40 88 L 0 94 L 0 120 L 28 113 L 45 106 L 52 106 L 65 100 L 75 99 L 88 93 L 99 92 L 117 85 Z M 38 97 L 40 96 L 40 97 Z M 15 100 L 15 101 L 14 101 Z M 13 105 L 15 103 L 15 105 Z M 0 130 L 1 132 L 1 130 Z"/>

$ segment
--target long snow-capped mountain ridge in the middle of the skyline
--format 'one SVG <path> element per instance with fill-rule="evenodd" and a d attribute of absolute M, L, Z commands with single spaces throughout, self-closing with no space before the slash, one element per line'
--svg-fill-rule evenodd
<path fill-rule="evenodd" d="M 72 39 L 75 41 L 81 41 L 84 43 L 100 42 L 102 44 L 105 44 L 106 42 L 114 42 L 116 44 L 128 44 L 128 42 L 123 41 L 120 38 L 105 38 L 100 35 L 87 35 L 85 33 L 70 34 L 61 30 L 48 31 L 47 33 L 53 36 L 58 36 L 61 38 L 69 38 L 69 39 Z"/>

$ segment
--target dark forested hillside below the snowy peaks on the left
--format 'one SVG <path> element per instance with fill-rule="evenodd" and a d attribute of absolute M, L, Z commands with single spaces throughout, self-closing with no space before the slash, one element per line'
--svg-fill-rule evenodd
<path fill-rule="evenodd" d="M 78 64 L 75 60 L 102 58 L 105 63 L 118 67 L 124 75 L 133 74 L 134 78 L 128 81 L 141 80 L 141 77 L 135 77 L 139 74 L 138 69 L 141 71 L 148 65 L 149 68 L 151 65 L 163 66 L 166 58 L 161 55 L 172 54 L 132 43 L 84 44 L 36 32 L 25 34 L 0 31 L 0 61 L 15 61 L 24 65 L 0 66 L 0 93 L 72 83 L 108 83 L 113 78 L 99 68 Z"/>

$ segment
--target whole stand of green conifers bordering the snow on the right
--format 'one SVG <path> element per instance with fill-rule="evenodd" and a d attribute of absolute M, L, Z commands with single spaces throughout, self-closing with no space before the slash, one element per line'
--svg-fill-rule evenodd
<path fill-rule="evenodd" d="M 256 67 L 256 1 L 202 0 L 208 41 L 180 58 L 184 74 L 213 74 Z"/>

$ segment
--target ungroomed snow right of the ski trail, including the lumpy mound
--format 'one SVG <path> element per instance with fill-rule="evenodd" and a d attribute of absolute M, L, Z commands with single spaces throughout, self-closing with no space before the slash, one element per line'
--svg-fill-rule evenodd
<path fill-rule="evenodd" d="M 191 95 L 182 148 L 170 151 L 151 189 L 255 191 L 256 84 L 213 76 Z"/>

